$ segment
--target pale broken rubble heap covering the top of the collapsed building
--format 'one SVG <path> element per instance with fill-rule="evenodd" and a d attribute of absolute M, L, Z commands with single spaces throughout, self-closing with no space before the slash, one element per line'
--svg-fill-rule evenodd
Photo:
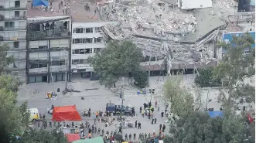
<path fill-rule="evenodd" d="M 105 9 L 101 13 L 104 20 L 118 22 L 118 26 L 108 29 L 123 38 L 133 34 L 153 37 L 165 33 L 185 35 L 196 30 L 196 18 L 192 13 L 181 12 L 173 5 L 157 0 L 151 3 L 145 0 L 121 1 L 113 10 Z"/>

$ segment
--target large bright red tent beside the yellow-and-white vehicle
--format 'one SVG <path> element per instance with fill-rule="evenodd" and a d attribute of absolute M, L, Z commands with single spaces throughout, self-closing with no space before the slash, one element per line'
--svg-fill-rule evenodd
<path fill-rule="evenodd" d="M 81 121 L 75 105 L 53 108 L 53 121 Z"/>

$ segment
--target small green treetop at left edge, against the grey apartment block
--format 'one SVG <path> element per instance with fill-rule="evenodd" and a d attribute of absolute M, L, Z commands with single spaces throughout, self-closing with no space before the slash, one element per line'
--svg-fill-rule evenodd
<path fill-rule="evenodd" d="M 9 72 L 8 66 L 14 62 L 13 56 L 8 56 L 9 46 L 0 46 L 0 73 Z"/>

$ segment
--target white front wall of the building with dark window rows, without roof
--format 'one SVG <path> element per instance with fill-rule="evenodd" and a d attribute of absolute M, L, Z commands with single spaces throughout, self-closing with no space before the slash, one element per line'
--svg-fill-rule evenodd
<path fill-rule="evenodd" d="M 73 22 L 71 44 L 71 71 L 82 77 L 93 77 L 89 58 L 105 47 L 102 26 L 107 22 Z"/>

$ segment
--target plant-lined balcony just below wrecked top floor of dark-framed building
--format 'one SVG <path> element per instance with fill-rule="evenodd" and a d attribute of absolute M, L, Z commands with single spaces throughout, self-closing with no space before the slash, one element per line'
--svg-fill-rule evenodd
<path fill-rule="evenodd" d="M 44 39 L 69 39 L 70 31 L 68 29 L 55 29 L 46 31 L 28 31 L 27 37 L 30 41 Z"/>

